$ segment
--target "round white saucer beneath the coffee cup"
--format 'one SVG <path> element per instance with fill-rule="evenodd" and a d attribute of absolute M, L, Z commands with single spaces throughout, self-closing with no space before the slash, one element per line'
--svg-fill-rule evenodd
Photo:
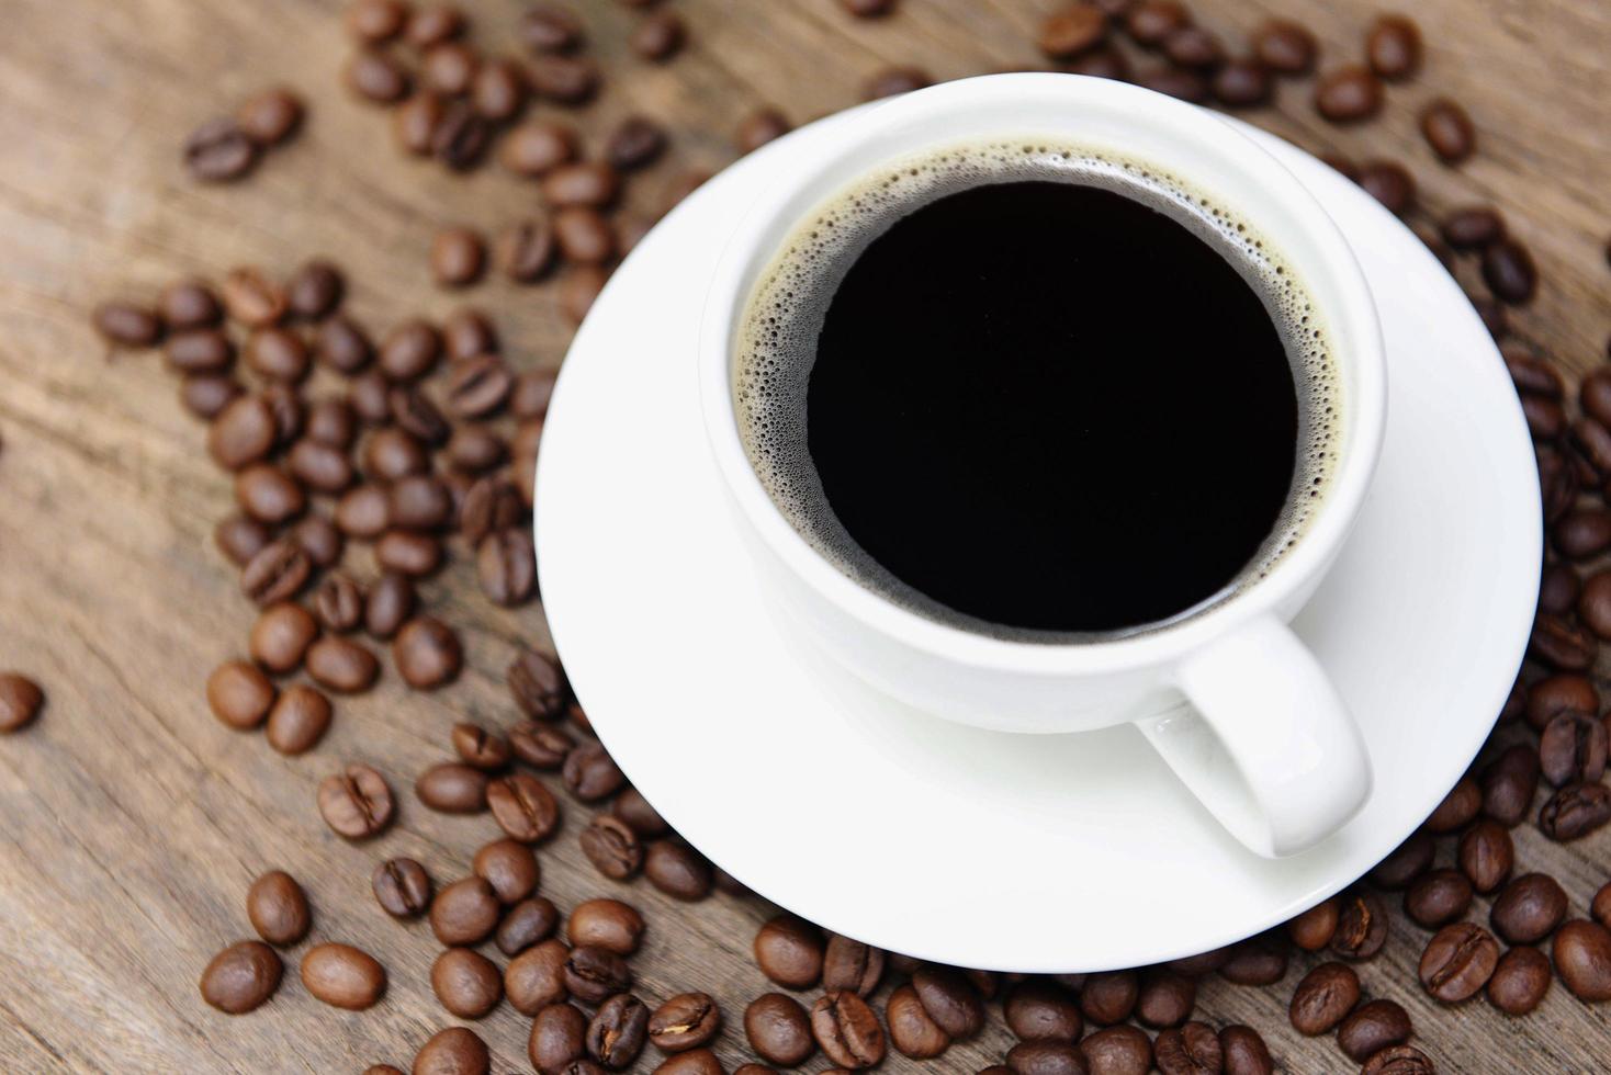
<path fill-rule="evenodd" d="M 1133 727 L 1012 735 L 902 708 L 828 665 L 759 592 L 701 428 L 698 320 L 735 214 L 833 126 L 765 146 L 678 206 L 565 359 L 538 467 L 538 565 L 554 640 L 614 758 L 760 895 L 965 967 L 1157 962 L 1361 875 L 1482 745 L 1537 599 L 1530 443 L 1458 286 L 1353 183 L 1247 129 L 1353 243 L 1392 412 L 1358 529 L 1295 623 L 1360 719 L 1376 789 L 1334 838 L 1261 859 Z"/>

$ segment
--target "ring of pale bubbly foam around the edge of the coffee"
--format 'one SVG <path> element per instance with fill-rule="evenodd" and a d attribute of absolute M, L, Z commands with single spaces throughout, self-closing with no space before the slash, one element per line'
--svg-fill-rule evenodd
<path fill-rule="evenodd" d="M 839 282 L 896 220 L 947 195 L 989 183 L 1058 180 L 1150 206 L 1216 249 L 1253 288 L 1286 344 L 1298 396 L 1298 459 L 1286 507 L 1249 566 L 1218 594 L 1170 620 L 1104 636 L 1029 631 L 967 616 L 915 591 L 844 529 L 806 441 L 806 396 L 817 338 Z M 1247 589 L 1281 562 L 1316 515 L 1337 470 L 1344 423 L 1326 325 L 1278 249 L 1213 198 L 1157 166 L 1062 143 L 991 142 L 891 161 L 804 217 L 751 290 L 735 341 L 731 391 L 749 463 L 789 525 L 860 584 L 923 616 L 1013 640 L 1120 637 L 1178 623 Z"/>

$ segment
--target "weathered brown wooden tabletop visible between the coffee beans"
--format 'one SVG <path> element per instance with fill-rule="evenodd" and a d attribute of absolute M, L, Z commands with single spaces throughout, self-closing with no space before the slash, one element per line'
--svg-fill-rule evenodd
<path fill-rule="evenodd" d="M 585 114 L 604 130 L 627 111 L 670 124 L 670 161 L 635 180 L 643 216 L 688 169 L 731 159 L 739 119 L 762 103 L 796 121 L 851 105 L 880 66 L 918 63 L 936 77 L 1039 63 L 1034 35 L 1054 0 L 904 0 L 897 18 L 855 23 L 831 0 L 675 0 L 693 43 L 665 66 L 625 48 L 633 14 L 612 0 L 574 0 L 594 55 L 614 74 Z M 517 3 L 470 0 L 477 37 L 514 48 Z M 1360 53 L 1365 0 L 1203 0 L 1210 26 L 1240 34 L 1269 13 L 1315 26 L 1331 63 Z M 6 1072 L 358 1072 L 414 1049 L 448 1025 L 429 988 L 437 946 L 422 924 L 400 927 L 369 895 L 385 855 L 412 855 L 438 882 L 467 872 L 490 838 L 485 818 L 422 809 L 409 787 L 441 760 L 448 726 L 466 716 L 512 719 L 503 669 L 520 640 L 546 645 L 541 610 L 495 612 L 464 558 L 429 586 L 467 640 L 467 669 L 449 690 L 404 692 L 395 674 L 372 695 L 338 703 L 335 727 L 309 756 L 282 758 L 261 735 L 226 731 L 201 682 L 245 649 L 253 618 L 235 571 L 213 549 L 230 491 L 200 451 L 203 431 L 176 402 L 151 357 L 108 364 L 87 327 L 108 296 L 153 296 L 180 274 L 221 275 L 258 262 L 288 272 L 338 256 L 351 309 L 372 327 L 464 301 L 432 288 L 424 251 L 443 222 L 496 229 L 533 203 L 496 167 L 469 177 L 404 161 L 385 117 L 337 87 L 346 53 L 335 0 L 208 3 L 13 0 L 0 47 L 0 668 L 24 669 L 50 702 L 26 734 L 0 742 L 0 1069 Z M 1540 262 L 1537 303 L 1518 335 L 1563 367 L 1605 360 L 1611 330 L 1611 122 L 1605 58 L 1611 8 L 1569 0 L 1426 0 L 1414 5 L 1429 56 L 1423 77 L 1389 93 L 1385 116 L 1339 130 L 1308 108 L 1307 85 L 1282 89 L 1279 111 L 1252 117 L 1311 150 L 1410 161 L 1434 209 L 1493 201 Z M 184 135 L 274 82 L 313 101 L 306 130 L 246 183 L 197 187 L 179 164 Z M 1464 101 L 1481 154 L 1437 166 L 1414 130 L 1435 93 Z M 520 365 L 553 367 L 569 338 L 554 288 L 487 283 L 469 296 L 496 311 Z M 1458 385 L 1450 385 L 1458 393 Z M 1481 586 L 1481 579 L 1472 579 Z M 314 811 L 314 785 L 343 760 L 391 776 L 400 824 L 369 846 L 335 838 Z M 580 858 L 586 811 L 567 803 L 561 838 L 545 846 L 543 890 L 561 906 L 620 892 L 651 933 L 635 964 L 640 993 L 717 995 L 722 1052 L 744 1049 L 741 1012 L 765 988 L 749 941 L 772 909 L 754 900 L 675 904 L 638 882 L 620 888 Z M 1522 861 L 1568 887 L 1574 912 L 1611 875 L 1611 830 L 1571 846 L 1518 830 Z M 267 867 L 308 887 L 316 940 L 380 953 L 387 999 L 345 1014 L 287 983 L 256 1014 L 229 1019 L 201 1004 L 208 958 L 250 937 L 242 898 Z M 1207 879 L 1203 883 L 1211 883 Z M 1479 909 L 1481 912 L 1481 909 Z M 959 929 L 989 929 L 988 922 Z M 1605 1070 L 1611 1024 L 1556 986 L 1532 1017 L 1482 1001 L 1442 1009 L 1414 986 L 1424 933 L 1394 921 L 1389 953 L 1361 967 L 1366 991 L 1398 998 L 1443 1072 Z M 1307 1041 L 1286 1006 L 1303 969 L 1269 990 L 1203 983 L 1199 1017 L 1258 1027 L 1290 1070 L 1350 1065 L 1331 1041 Z M 807 998 L 809 999 L 809 998 Z M 528 1020 L 504 1006 L 477 1027 L 498 1072 L 528 1070 Z M 997 1062 L 999 1019 L 933 1070 Z M 825 1067 L 820 1059 L 807 1065 Z M 917 1070 L 892 1056 L 884 1070 Z"/>

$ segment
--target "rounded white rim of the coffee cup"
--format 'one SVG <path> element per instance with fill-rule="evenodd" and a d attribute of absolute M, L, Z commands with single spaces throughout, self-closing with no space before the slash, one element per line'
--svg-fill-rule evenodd
<path fill-rule="evenodd" d="M 1324 314 L 1339 341 L 1345 341 L 1339 352 L 1344 352 L 1342 362 L 1347 367 L 1347 441 L 1321 510 L 1298 542 L 1263 579 L 1231 599 L 1178 623 L 1113 639 L 1042 642 L 979 634 L 931 620 L 867 589 L 812 547 L 767 494 L 739 438 L 731 393 L 733 330 L 749 301 L 756 274 L 777 253 L 757 251 L 756 241 L 785 217 L 793 222 L 804 216 L 797 209 L 802 192 L 812 192 L 806 208 L 809 212 L 839 187 L 823 185 L 823 177 L 843 171 L 854 159 L 873 161 L 857 171 L 862 174 L 875 171 L 880 158 L 899 159 L 921 151 L 880 150 L 881 143 L 915 121 L 963 109 L 1012 116 L 1029 103 L 1068 109 L 1070 114 L 1078 114 L 1078 109 L 1120 114 L 1129 124 L 1150 124 L 1168 135 L 1171 145 L 1178 140 L 1195 151 L 1218 156 L 1249 180 L 1249 192 L 1232 192 L 1224 201 L 1245 211 L 1255 222 L 1260 217 L 1257 204 L 1249 209 L 1255 196 L 1265 203 L 1279 201 L 1287 214 L 1302 220 L 1305 241 L 1316 248 L 1316 256 L 1326 266 L 1331 294 Z M 1286 166 L 1208 109 L 1136 85 L 1075 74 L 1013 72 L 944 82 L 873 105 L 849 119 L 854 127 L 846 124 L 843 142 L 814 161 L 810 175 L 799 183 L 767 188 L 738 214 L 701 317 L 699 399 L 707 441 L 744 521 L 780 563 L 843 613 L 915 650 L 965 666 L 1026 674 L 1112 673 L 1174 663 L 1236 626 L 1278 608 L 1287 597 L 1300 594 L 1310 579 L 1324 573 L 1363 505 L 1381 454 L 1387 417 L 1385 354 L 1376 306 L 1352 248 L 1331 216 Z M 1013 124 L 1015 121 L 1004 121 L 999 135 L 1078 137 L 1068 130 Z M 950 138 L 952 143 L 960 140 L 960 135 Z M 938 148 L 947 145 L 947 140 L 936 138 L 931 145 Z M 1166 159 L 1158 163 L 1170 164 Z"/>

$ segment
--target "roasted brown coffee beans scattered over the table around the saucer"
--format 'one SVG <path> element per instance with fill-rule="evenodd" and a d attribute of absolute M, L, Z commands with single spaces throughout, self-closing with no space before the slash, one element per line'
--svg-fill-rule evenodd
<path fill-rule="evenodd" d="M 683 23 L 649 0 L 633 6 L 644 8 L 632 37 L 636 55 L 675 55 L 686 40 Z M 855 18 L 909 18 L 894 0 L 843 6 Z M 346 27 L 358 42 L 346 82 L 362 98 L 395 106 L 406 151 L 462 169 L 501 138 L 504 166 L 540 185 L 545 216 L 493 243 L 474 229 L 443 229 L 430 259 L 438 283 L 474 283 L 488 264 L 536 280 L 562 259 L 570 264 L 562 306 L 580 320 L 641 233 L 603 214 L 617 203 L 623 175 L 656 161 L 669 137 L 633 117 L 590 158 L 575 127 L 522 119 L 528 100 L 575 106 L 598 92 L 603 72 L 583 51 L 583 23 L 561 5 L 532 5 L 519 23 L 527 60 L 472 48 L 467 19 L 451 5 L 356 0 Z M 1313 108 L 1339 124 L 1377 116 L 1389 87 L 1424 66 L 1419 29 L 1405 16 L 1379 16 L 1356 58 L 1323 68 L 1303 26 L 1268 21 L 1234 51 L 1174 0 L 1071 3 L 1047 18 L 1033 45 L 1057 69 L 1237 109 L 1273 101 L 1278 82 L 1313 77 Z M 884 97 L 928 80 L 920 69 L 894 66 L 862 90 Z M 292 130 L 300 113 L 300 105 L 267 98 L 242 108 L 229 122 L 246 148 L 219 127 L 198 142 L 198 175 L 243 174 L 256 148 Z M 1437 98 L 1419 122 L 1440 164 L 1474 153 L 1474 127 L 1458 103 Z M 736 143 L 751 151 L 788 129 L 778 108 L 760 106 Z M 279 137 L 267 138 L 272 130 Z M 1162 966 L 1041 977 L 967 970 L 777 916 L 754 937 L 756 964 L 777 988 L 743 1009 L 756 1059 L 738 1075 L 818 1056 L 833 1070 L 860 1070 L 891 1051 L 944 1064 L 939 1057 L 954 1043 L 996 1019 L 1017 1044 L 988 1075 L 1276 1070 L 1258 1030 L 1192 1019 L 1208 975 L 1266 990 L 1284 988 L 1292 975 L 1297 1033 L 1332 1036 L 1368 1075 L 1427 1075 L 1434 1059 L 1410 1014 L 1369 996 L 1358 974 L 1390 933 L 1402 933 L 1389 929 L 1400 916 L 1419 930 L 1416 977 L 1440 1004 L 1482 995 L 1500 1012 L 1524 1015 L 1556 980 L 1584 1003 L 1611 999 L 1611 882 L 1574 898 L 1558 880 L 1529 872 L 1511 835 L 1530 821 L 1551 840 L 1577 840 L 1611 821 L 1611 715 L 1601 713 L 1592 671 L 1600 642 L 1611 639 L 1611 571 L 1585 579 L 1579 568 L 1611 550 L 1611 370 L 1590 373 L 1572 397 L 1548 359 L 1514 336 L 1508 311 L 1532 299 L 1539 274 L 1497 209 L 1434 216 L 1402 163 L 1327 159 L 1405 217 L 1452 270 L 1482 280 L 1485 293 L 1472 301 L 1501 346 L 1537 443 L 1550 528 L 1539 616 L 1529 660 L 1471 772 L 1348 892 L 1284 927 Z M 690 177 L 680 193 L 699 179 Z M 155 303 L 110 303 L 93 314 L 114 348 L 163 346 L 184 406 L 209 422 L 206 449 L 232 476 L 238 505 L 219 523 L 216 542 L 259 613 L 245 657 L 213 671 L 206 700 L 226 727 L 264 727 L 285 755 L 319 742 L 333 718 L 330 695 L 367 690 L 383 674 L 375 652 L 383 645 L 411 689 L 454 679 L 458 634 L 424 610 L 419 592 L 454 552 L 474 557 L 495 603 L 535 595 L 528 513 L 553 375 L 514 372 L 491 322 L 475 311 L 441 325 L 408 320 L 375 338 L 343 312 L 343 294 L 342 270 L 313 261 L 285 282 L 237 269 L 219 285 L 176 282 Z M 313 391 L 321 381 L 337 388 Z M 367 568 L 348 563 L 353 546 L 369 549 Z M 298 674 L 311 682 L 290 682 Z M 441 885 L 417 861 L 377 853 L 379 911 L 429 919 L 441 945 L 430 985 L 448 1015 L 478 1019 L 509 1003 L 530 1017 L 527 1051 L 540 1072 L 590 1075 L 656 1062 L 656 1072 L 670 1075 L 725 1072 L 710 1044 L 736 1011 L 723 1012 L 702 991 L 659 1003 L 633 991 L 632 958 L 648 929 L 636 908 L 599 896 L 567 916 L 540 893 L 536 848 L 554 838 L 565 809 L 554 792 L 588 814 L 577 838 L 604 879 L 641 875 L 690 901 L 715 888 L 748 898 L 743 887 L 680 840 L 627 782 L 553 657 L 514 653 L 507 687 L 511 721 L 456 724 L 441 761 L 412 785 L 429 809 L 490 814 L 488 842 L 462 877 Z M 0 731 L 27 724 L 42 698 L 31 681 L 0 674 Z M 309 808 L 343 838 L 366 842 L 383 837 L 398 800 L 385 774 L 353 761 L 325 776 Z M 313 932 L 306 893 L 279 871 L 251 885 L 246 914 L 261 940 L 230 945 L 201 974 L 206 1003 L 232 1014 L 274 995 L 284 974 L 279 949 Z M 493 951 L 478 951 L 487 943 L 503 966 Z M 301 980 L 321 1001 L 362 1009 L 383 996 L 387 972 L 364 951 L 324 941 L 303 953 Z M 419 1043 L 412 1070 L 488 1072 L 490 1051 L 475 1032 L 449 1027 Z M 380 1064 L 367 1075 L 388 1072 L 400 1069 Z"/>

